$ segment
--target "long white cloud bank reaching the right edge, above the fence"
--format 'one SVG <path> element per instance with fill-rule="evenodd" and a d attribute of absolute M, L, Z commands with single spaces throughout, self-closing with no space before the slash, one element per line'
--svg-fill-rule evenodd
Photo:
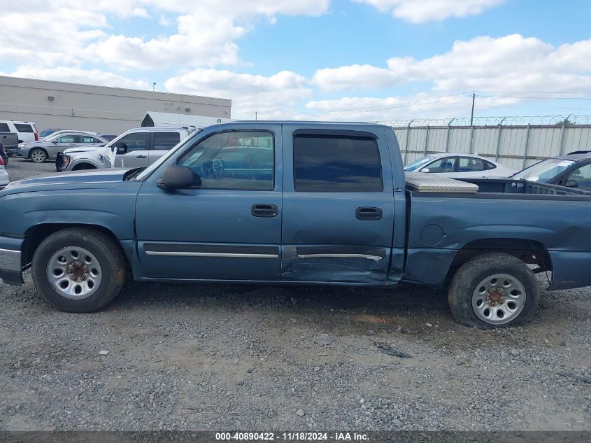
<path fill-rule="evenodd" d="M 439 93 L 466 90 L 502 92 L 591 91 L 591 40 L 554 48 L 519 34 L 456 41 L 441 55 L 394 57 L 387 68 L 350 65 L 315 72 L 323 90 L 380 90 L 403 83 L 431 82 Z"/>

